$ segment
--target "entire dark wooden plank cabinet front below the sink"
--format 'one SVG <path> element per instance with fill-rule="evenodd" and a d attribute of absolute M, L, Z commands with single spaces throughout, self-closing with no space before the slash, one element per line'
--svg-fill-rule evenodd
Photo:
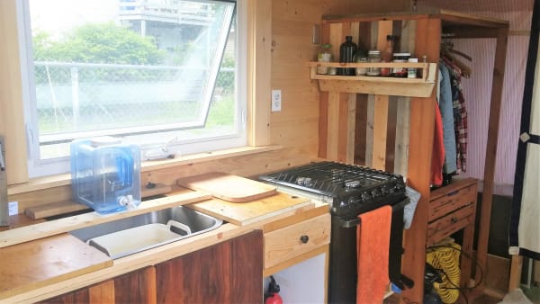
<path fill-rule="evenodd" d="M 261 230 L 40 303 L 261 303 Z"/>

